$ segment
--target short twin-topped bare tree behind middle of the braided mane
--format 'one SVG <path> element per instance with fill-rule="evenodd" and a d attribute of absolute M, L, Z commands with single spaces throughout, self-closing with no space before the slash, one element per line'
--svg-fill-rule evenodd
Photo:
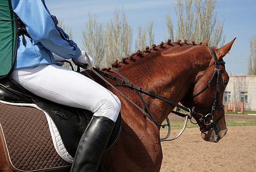
<path fill-rule="evenodd" d="M 148 40 L 147 40 L 148 37 Z M 146 28 L 142 30 L 141 26 L 138 26 L 138 35 L 135 42 L 135 48 L 143 50 L 146 45 L 151 46 L 155 41 L 155 33 L 153 33 L 153 21 L 149 21 Z"/>

